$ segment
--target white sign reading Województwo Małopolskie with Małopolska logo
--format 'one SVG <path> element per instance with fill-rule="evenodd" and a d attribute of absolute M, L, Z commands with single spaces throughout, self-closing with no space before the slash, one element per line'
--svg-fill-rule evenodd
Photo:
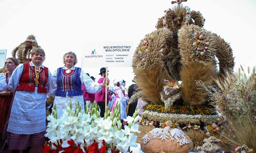
<path fill-rule="evenodd" d="M 131 67 L 134 50 L 134 42 L 87 43 L 81 67 Z"/>

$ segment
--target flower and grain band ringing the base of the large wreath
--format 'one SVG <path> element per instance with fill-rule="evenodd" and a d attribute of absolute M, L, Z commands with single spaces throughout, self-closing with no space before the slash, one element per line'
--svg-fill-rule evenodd
<path fill-rule="evenodd" d="M 215 108 L 212 105 L 172 105 L 170 109 L 166 109 L 164 104 L 148 103 L 143 107 L 144 112 L 141 117 L 144 120 L 154 121 L 156 123 L 163 123 L 167 120 L 180 127 L 186 124 L 219 124 L 219 115 L 213 112 Z M 163 125 L 155 124 L 156 127 Z M 175 127 L 178 128 L 178 127 Z"/>

